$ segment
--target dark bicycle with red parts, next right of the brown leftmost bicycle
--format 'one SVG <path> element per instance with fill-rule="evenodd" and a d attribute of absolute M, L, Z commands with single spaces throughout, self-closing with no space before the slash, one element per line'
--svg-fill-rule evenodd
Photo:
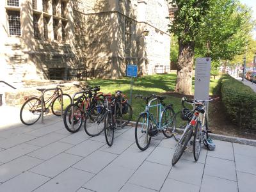
<path fill-rule="evenodd" d="M 92 111 L 92 109 L 104 102 L 102 99 L 103 93 L 99 92 L 100 86 L 83 88 L 79 84 L 74 85 L 80 90 L 84 90 L 84 93 L 74 99 L 75 103 L 67 106 L 63 115 L 65 128 L 72 133 L 79 131 L 83 121 L 86 122 L 87 117 L 94 122 L 97 111 Z"/>

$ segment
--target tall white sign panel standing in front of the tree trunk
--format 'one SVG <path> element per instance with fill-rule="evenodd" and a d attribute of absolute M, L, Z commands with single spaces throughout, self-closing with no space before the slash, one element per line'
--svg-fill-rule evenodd
<path fill-rule="evenodd" d="M 211 58 L 196 58 L 194 99 L 209 99 Z"/>

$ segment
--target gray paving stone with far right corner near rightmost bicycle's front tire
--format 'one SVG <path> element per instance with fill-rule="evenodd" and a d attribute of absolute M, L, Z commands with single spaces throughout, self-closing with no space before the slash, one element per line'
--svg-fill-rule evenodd
<path fill-rule="evenodd" d="M 159 191 L 169 171 L 170 166 L 145 161 L 128 182 Z"/>

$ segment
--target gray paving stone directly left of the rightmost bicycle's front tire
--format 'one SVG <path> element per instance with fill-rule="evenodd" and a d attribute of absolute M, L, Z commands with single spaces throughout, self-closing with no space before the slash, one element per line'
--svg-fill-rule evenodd
<path fill-rule="evenodd" d="M 156 147 L 147 157 L 147 161 L 172 166 L 172 156 L 174 151 L 171 148 Z"/>

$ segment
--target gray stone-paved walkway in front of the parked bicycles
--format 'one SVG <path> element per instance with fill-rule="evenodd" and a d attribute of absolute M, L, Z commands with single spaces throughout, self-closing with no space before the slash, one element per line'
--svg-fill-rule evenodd
<path fill-rule="evenodd" d="M 15 119 L 17 109 L 6 122 Z M 203 149 L 197 163 L 187 151 L 172 166 L 173 138 L 160 134 L 141 152 L 134 128 L 120 129 L 115 137 L 108 147 L 104 135 L 91 138 L 83 127 L 70 134 L 52 116 L 45 124 L 1 125 L 0 191 L 256 190 L 256 147 L 215 141 L 216 150 Z"/>

